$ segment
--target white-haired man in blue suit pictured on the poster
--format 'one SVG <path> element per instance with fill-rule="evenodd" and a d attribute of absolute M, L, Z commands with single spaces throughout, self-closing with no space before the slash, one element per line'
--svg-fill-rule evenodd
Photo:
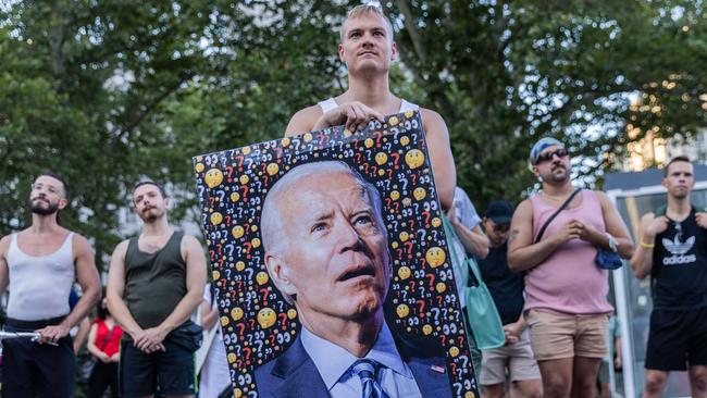
<path fill-rule="evenodd" d="M 261 228 L 268 273 L 302 328 L 256 370 L 260 397 L 451 396 L 444 357 L 420 352 L 439 343 L 411 347 L 385 323 L 392 263 L 372 184 L 339 161 L 296 166 L 269 191 Z"/>

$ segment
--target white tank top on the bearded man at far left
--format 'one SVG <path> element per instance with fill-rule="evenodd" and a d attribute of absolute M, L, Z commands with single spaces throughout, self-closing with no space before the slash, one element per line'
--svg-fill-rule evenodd
<path fill-rule="evenodd" d="M 74 233 L 49 256 L 24 253 L 12 234 L 8 250 L 10 298 L 8 316 L 20 321 L 40 321 L 69 314 L 69 295 L 74 283 Z"/>

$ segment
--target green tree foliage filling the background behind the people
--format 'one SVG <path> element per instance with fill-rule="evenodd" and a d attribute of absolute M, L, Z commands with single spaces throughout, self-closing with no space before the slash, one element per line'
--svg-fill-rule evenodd
<path fill-rule="evenodd" d="M 0 232 L 27 224 L 39 171 L 67 176 L 63 222 L 123 237 L 144 176 L 188 217 L 190 157 L 282 136 L 289 116 L 346 89 L 338 26 L 358 1 L 17 1 L 0 7 Z M 553 135 L 597 176 L 647 130 L 706 124 L 707 32 L 695 1 L 383 2 L 400 61 L 393 89 L 445 117 L 477 206 L 533 185 L 532 141 Z M 632 105 L 633 104 L 633 105 Z M 638 135 L 629 138 L 627 125 Z M 493 183 L 492 183 L 493 182 Z"/>

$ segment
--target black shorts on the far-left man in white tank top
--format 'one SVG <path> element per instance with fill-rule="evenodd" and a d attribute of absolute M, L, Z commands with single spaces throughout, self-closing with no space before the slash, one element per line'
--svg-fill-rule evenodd
<path fill-rule="evenodd" d="M 9 319 L 4 329 L 34 332 L 59 324 L 61 320 L 25 322 Z M 73 397 L 75 369 L 76 358 L 69 336 L 60 339 L 57 346 L 40 345 L 24 337 L 3 340 L 2 396 Z"/>

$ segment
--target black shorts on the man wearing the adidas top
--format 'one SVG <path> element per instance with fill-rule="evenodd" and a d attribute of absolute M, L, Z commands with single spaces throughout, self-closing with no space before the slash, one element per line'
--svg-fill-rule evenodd
<path fill-rule="evenodd" d="M 646 369 L 684 371 L 707 365 L 707 307 L 696 310 L 653 310 Z"/>

